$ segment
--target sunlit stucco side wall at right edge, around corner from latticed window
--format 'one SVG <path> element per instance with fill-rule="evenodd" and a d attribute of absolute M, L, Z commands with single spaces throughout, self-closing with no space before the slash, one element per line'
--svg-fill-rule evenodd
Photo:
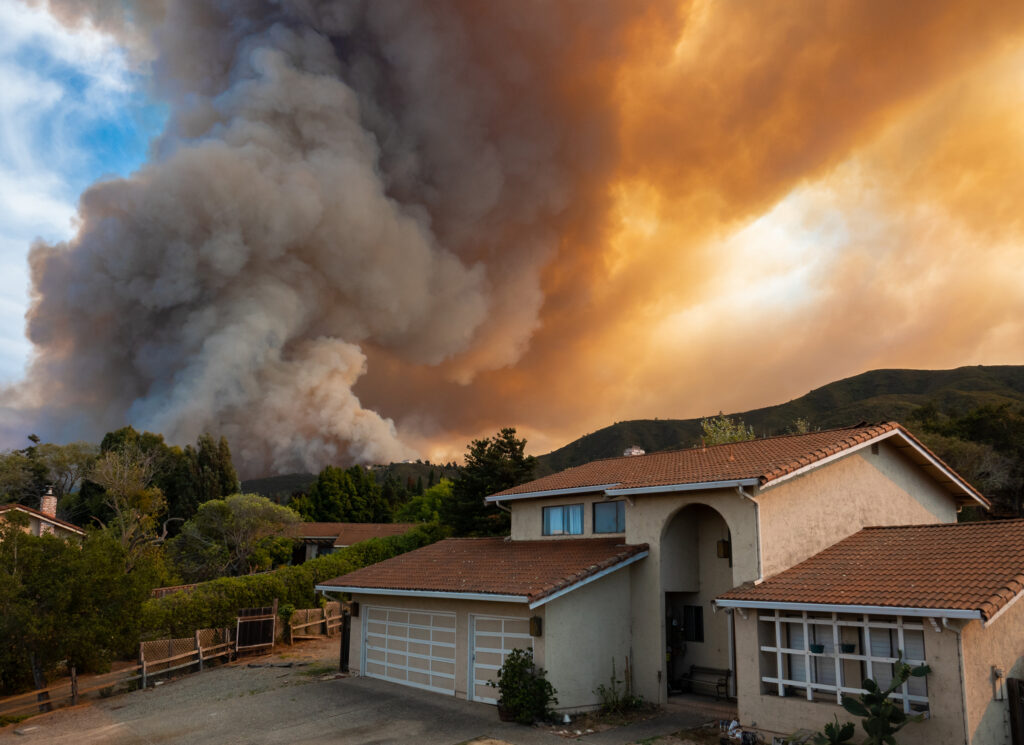
<path fill-rule="evenodd" d="M 1010 712 L 1005 680 L 999 682 L 1002 701 L 994 699 L 992 667 L 1006 677 L 1024 677 L 1024 602 L 1014 603 L 987 628 L 981 621 L 965 626 L 964 672 L 967 681 L 968 728 L 971 745 L 1010 742 Z"/>

